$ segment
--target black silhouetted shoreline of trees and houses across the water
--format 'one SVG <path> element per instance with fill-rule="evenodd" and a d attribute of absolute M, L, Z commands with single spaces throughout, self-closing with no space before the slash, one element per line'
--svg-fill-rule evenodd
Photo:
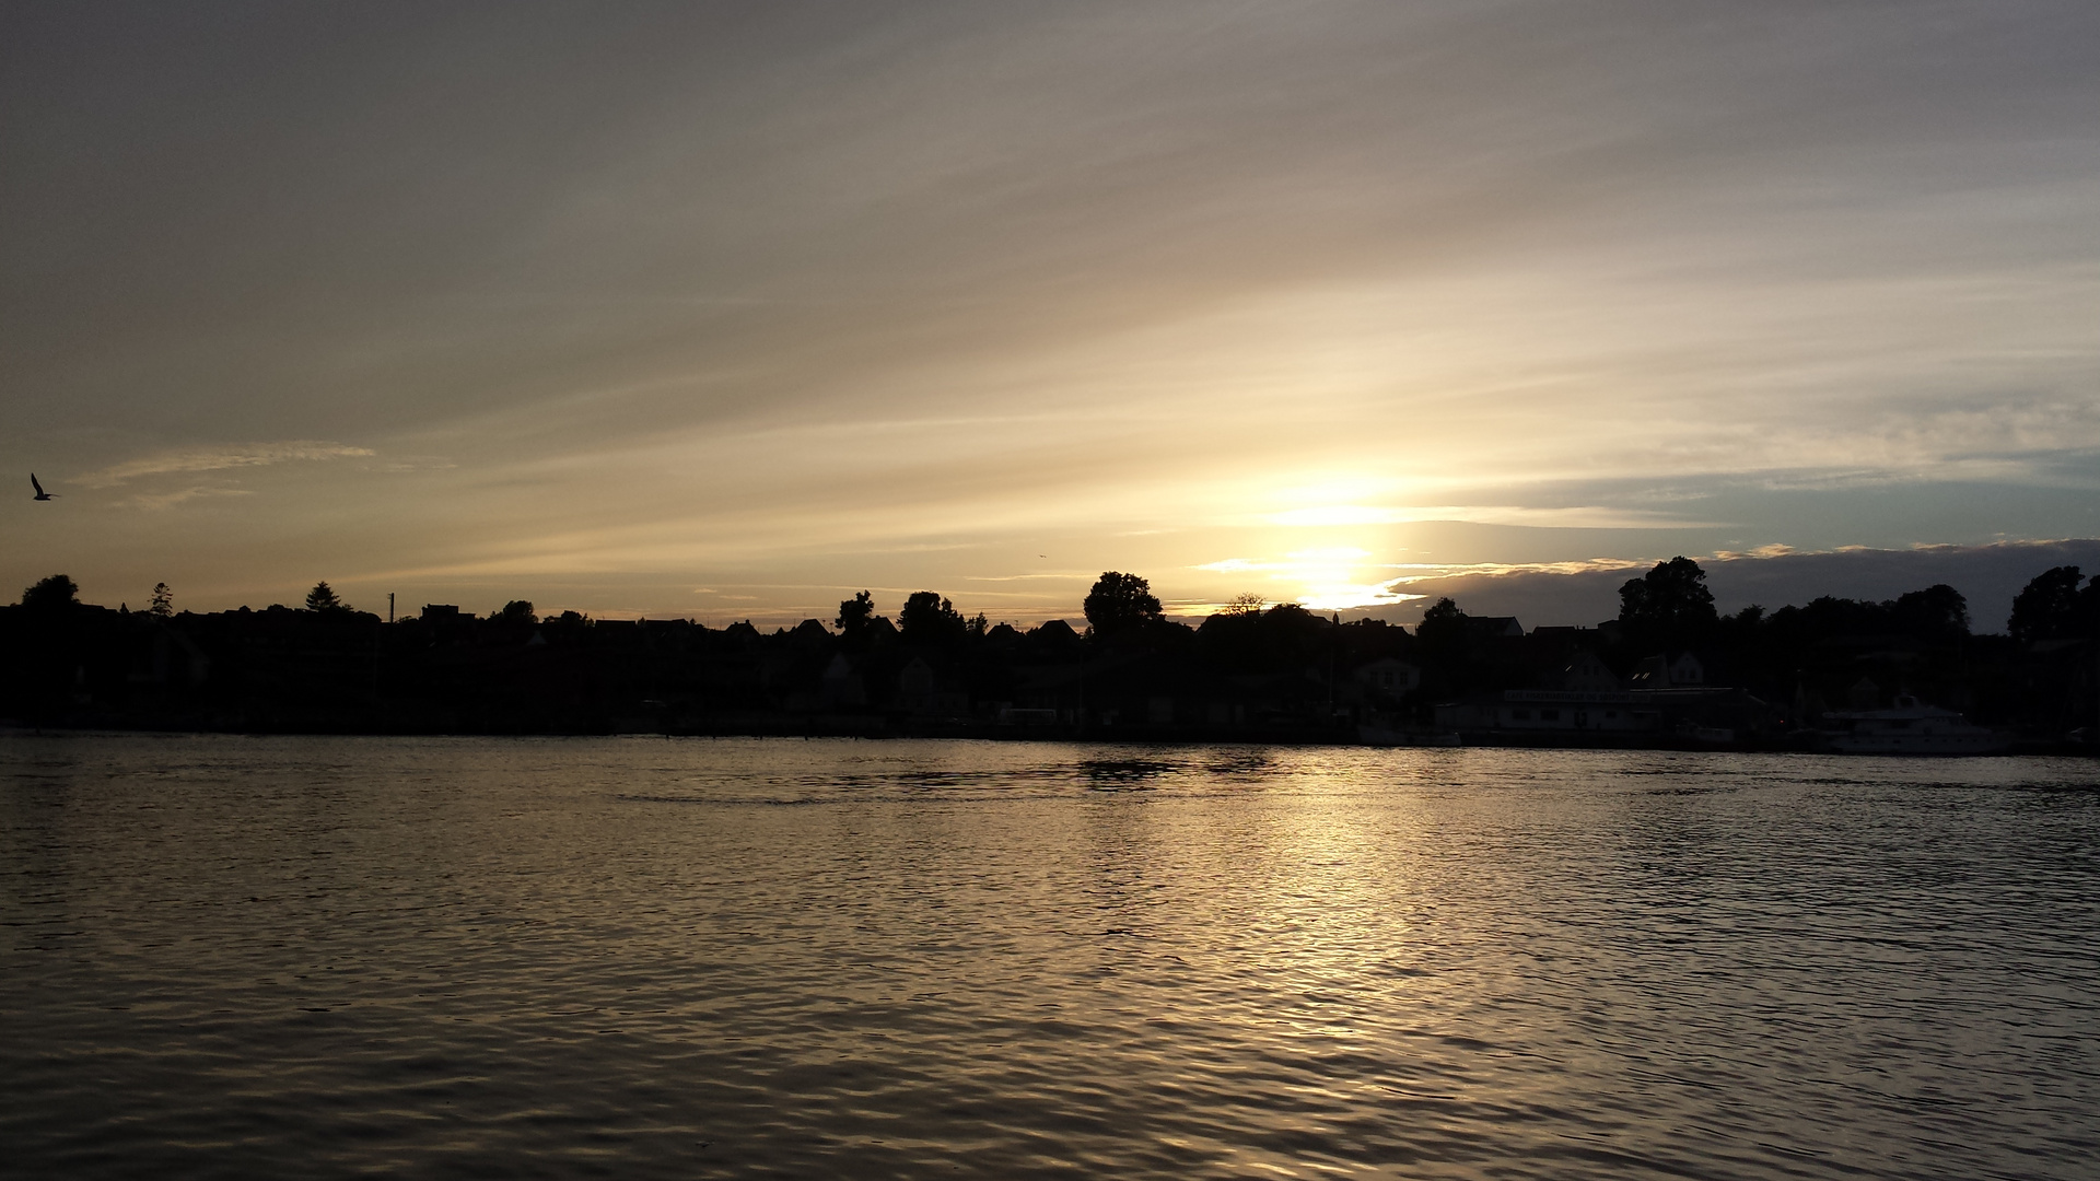
<path fill-rule="evenodd" d="M 326 582 L 304 609 L 176 614 L 166 586 L 151 609 L 126 612 L 84 605 L 55 576 L 0 607 L 0 717 L 237 731 L 1329 742 L 1367 727 L 1476 727 L 1466 719 L 1485 717 L 1483 702 L 1539 702 L 1541 712 L 1634 702 L 1646 729 L 1533 738 L 1785 746 L 1831 710 L 1898 696 L 2035 742 L 2083 742 L 2100 712 L 2100 578 L 2075 567 L 2029 584 L 2012 635 L 1974 635 L 1951 586 L 1722 616 L 1705 572 L 1682 557 L 1628 580 L 1619 616 L 1596 626 L 1525 630 L 1449 599 L 1413 630 L 1292 603 L 1239 603 L 1191 626 L 1121 572 L 1102 574 L 1084 614 L 1084 630 L 1060 620 L 1018 630 L 922 590 L 890 620 L 863 590 L 832 620 L 771 633 L 540 616 L 527 601 L 487 616 L 428 605 L 384 622 Z"/>

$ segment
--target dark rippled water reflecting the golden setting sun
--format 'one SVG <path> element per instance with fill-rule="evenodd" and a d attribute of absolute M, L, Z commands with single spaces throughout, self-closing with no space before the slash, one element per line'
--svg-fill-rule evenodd
<path fill-rule="evenodd" d="M 2096 765 L 0 740 L 63 1177 L 2094 1177 Z"/>

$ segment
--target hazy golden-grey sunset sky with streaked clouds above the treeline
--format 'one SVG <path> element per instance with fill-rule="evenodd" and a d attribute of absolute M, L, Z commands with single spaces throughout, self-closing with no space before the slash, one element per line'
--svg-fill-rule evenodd
<path fill-rule="evenodd" d="M 25 2 L 0 162 L 0 588 L 1548 624 L 1964 555 L 1991 628 L 2100 536 L 2090 0 Z"/>

